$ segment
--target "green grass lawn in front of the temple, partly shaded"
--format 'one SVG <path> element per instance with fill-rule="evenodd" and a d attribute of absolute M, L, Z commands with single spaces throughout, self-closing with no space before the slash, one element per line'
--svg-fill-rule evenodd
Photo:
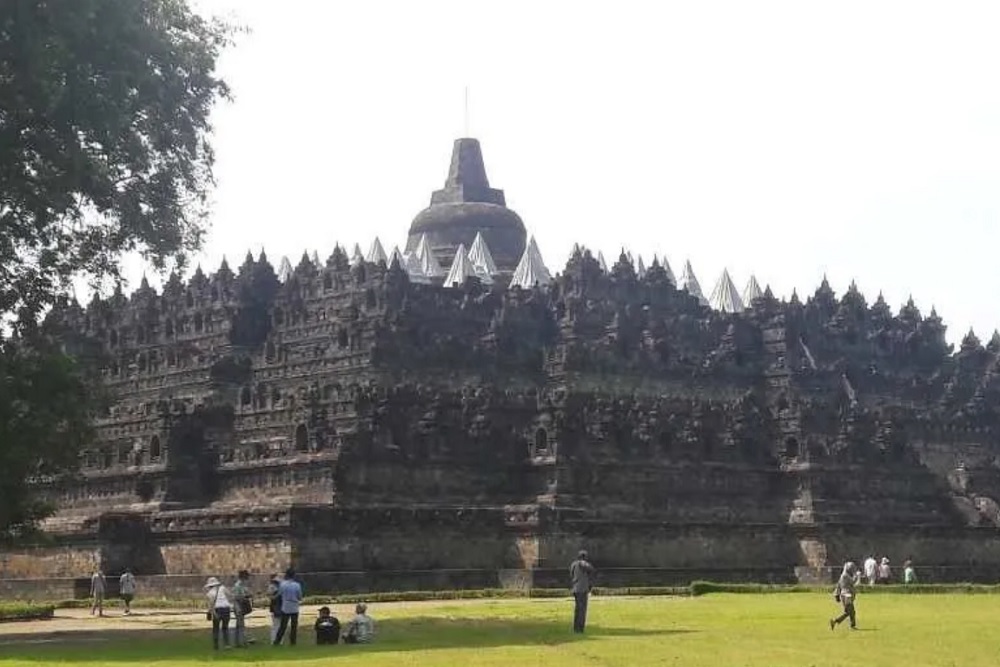
<path fill-rule="evenodd" d="M 369 611 L 378 623 L 369 646 L 313 646 L 310 609 L 297 647 L 255 645 L 218 654 L 203 615 L 78 614 L 20 628 L 4 624 L 0 666 L 1000 665 L 995 595 L 862 595 L 857 632 L 831 632 L 827 619 L 838 607 L 817 593 L 594 598 L 582 637 L 570 632 L 569 599 L 384 604 Z M 347 609 L 335 612 L 343 619 Z M 255 619 L 258 626 L 265 620 Z M 254 634 L 266 636 L 261 627 Z"/>

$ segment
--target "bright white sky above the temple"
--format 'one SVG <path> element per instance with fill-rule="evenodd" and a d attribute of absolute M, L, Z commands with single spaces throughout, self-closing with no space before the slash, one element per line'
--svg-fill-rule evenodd
<path fill-rule="evenodd" d="M 452 142 L 553 270 L 574 242 L 779 295 L 824 273 L 1000 325 L 1000 4 L 199 0 L 222 71 L 204 256 L 402 245 Z M 235 268 L 235 267 L 234 267 Z M 141 271 L 136 269 L 136 271 Z"/>

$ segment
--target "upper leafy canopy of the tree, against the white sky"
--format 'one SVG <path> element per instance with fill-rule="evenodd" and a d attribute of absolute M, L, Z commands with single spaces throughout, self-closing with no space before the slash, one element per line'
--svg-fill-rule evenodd
<path fill-rule="evenodd" d="M 0 3 L 0 313 L 199 246 L 230 36 L 187 0 Z"/>

